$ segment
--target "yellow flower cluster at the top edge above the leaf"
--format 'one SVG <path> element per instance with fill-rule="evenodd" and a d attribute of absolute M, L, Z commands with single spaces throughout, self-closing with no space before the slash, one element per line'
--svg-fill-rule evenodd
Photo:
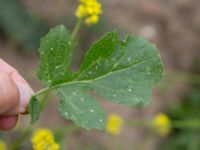
<path fill-rule="evenodd" d="M 102 14 L 101 3 L 97 0 L 79 0 L 76 17 L 83 18 L 87 25 L 96 24 Z"/>

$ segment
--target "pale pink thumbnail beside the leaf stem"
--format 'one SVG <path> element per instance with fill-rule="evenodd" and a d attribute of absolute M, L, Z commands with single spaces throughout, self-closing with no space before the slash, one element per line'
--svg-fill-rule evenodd
<path fill-rule="evenodd" d="M 15 84 L 20 95 L 19 113 L 25 113 L 27 111 L 29 100 L 33 95 L 33 90 L 28 85 L 21 82 L 15 81 Z"/>

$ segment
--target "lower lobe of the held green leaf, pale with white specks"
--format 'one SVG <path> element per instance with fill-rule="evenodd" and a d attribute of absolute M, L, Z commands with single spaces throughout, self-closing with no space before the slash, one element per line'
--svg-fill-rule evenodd
<path fill-rule="evenodd" d="M 85 129 L 104 129 L 105 111 L 88 93 L 87 84 L 71 84 L 58 88 L 56 93 L 61 99 L 58 110 L 61 115 L 73 120 Z"/>

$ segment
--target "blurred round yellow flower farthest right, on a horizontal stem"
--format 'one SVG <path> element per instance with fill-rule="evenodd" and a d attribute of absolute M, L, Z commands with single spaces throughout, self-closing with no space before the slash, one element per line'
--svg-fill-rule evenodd
<path fill-rule="evenodd" d="M 166 136 L 171 130 L 170 118 L 163 113 L 159 113 L 153 119 L 153 128 L 161 136 Z"/>

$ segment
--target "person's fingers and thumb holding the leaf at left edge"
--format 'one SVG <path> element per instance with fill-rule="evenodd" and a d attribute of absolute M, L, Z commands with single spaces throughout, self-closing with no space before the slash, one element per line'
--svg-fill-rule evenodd
<path fill-rule="evenodd" d="M 17 124 L 19 114 L 27 113 L 33 90 L 25 79 L 0 59 L 0 130 L 10 130 Z"/>

